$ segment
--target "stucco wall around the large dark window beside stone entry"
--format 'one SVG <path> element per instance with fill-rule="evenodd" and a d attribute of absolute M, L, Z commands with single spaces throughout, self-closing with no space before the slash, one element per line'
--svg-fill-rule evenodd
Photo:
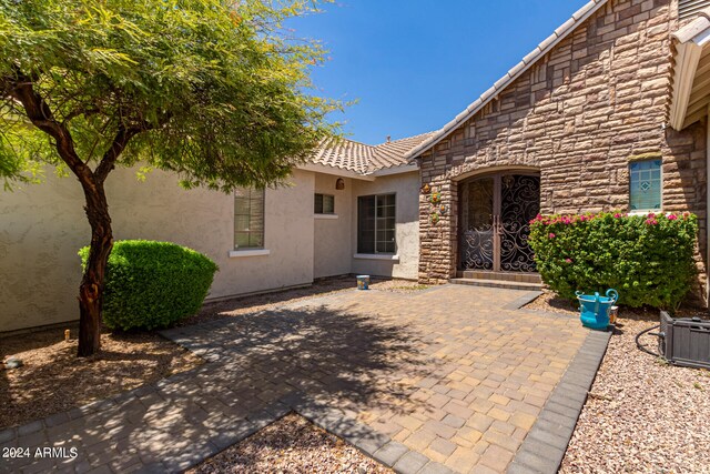
<path fill-rule="evenodd" d="M 410 172 L 355 181 L 353 186 L 353 252 L 357 251 L 357 196 L 396 193 L 398 261 L 353 258 L 353 272 L 369 275 L 417 279 L 419 266 L 419 173 Z"/>

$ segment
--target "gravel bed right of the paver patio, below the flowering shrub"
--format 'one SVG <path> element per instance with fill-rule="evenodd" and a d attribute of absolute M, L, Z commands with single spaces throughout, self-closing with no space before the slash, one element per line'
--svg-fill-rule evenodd
<path fill-rule="evenodd" d="M 569 306 L 546 293 L 528 307 L 578 317 Z M 710 372 L 639 351 L 636 335 L 658 320 L 657 311 L 619 310 L 560 472 L 710 473 Z M 655 336 L 641 343 L 656 352 Z"/>

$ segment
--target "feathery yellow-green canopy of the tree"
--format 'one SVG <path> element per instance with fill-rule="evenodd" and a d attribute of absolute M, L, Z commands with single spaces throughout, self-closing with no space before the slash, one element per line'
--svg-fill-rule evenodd
<path fill-rule="evenodd" d="M 334 131 L 325 115 L 339 107 L 311 93 L 323 50 L 283 29 L 315 8 L 0 0 L 0 177 L 29 179 L 41 162 L 71 168 L 63 145 L 98 177 L 142 160 L 187 186 L 282 180 Z"/>

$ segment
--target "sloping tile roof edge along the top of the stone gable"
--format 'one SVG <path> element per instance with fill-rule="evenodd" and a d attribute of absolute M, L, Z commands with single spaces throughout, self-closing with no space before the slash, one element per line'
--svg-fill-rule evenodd
<path fill-rule="evenodd" d="M 466 122 L 468 119 L 474 117 L 476 112 L 483 109 L 488 102 L 495 99 L 504 89 L 506 89 L 513 81 L 518 79 L 525 71 L 527 71 L 534 63 L 536 63 L 539 59 L 544 58 L 552 48 L 555 48 L 561 40 L 567 38 L 569 33 L 571 33 L 578 26 L 585 22 L 589 17 L 591 17 L 597 10 L 604 7 L 608 0 L 591 0 L 582 8 L 577 10 L 572 17 L 562 23 L 552 34 L 550 34 L 547 39 L 545 39 L 540 44 L 538 44 L 532 51 L 528 53 L 523 61 L 518 62 L 514 65 L 506 74 L 497 80 L 490 89 L 484 92 L 478 99 L 476 99 L 473 103 L 470 103 L 466 110 L 456 115 L 454 120 L 444 125 L 440 130 L 414 147 L 409 150 L 405 158 L 410 160 L 416 158 L 420 153 L 427 151 L 439 141 L 445 139 L 452 131 L 456 130 L 462 123 Z"/>

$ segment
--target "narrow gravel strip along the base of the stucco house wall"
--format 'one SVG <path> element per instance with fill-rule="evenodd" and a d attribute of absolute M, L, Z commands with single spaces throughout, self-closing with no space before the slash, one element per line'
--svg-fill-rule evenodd
<path fill-rule="evenodd" d="M 207 303 L 194 316 L 180 322 L 179 325 L 187 326 L 223 317 L 239 316 L 255 311 L 268 310 L 278 305 L 295 303 L 311 297 L 325 296 L 342 291 L 355 291 L 355 276 L 337 276 L 320 280 L 310 286 L 284 290 L 274 293 L 255 294 L 252 296 L 232 297 L 216 303 Z M 420 285 L 409 280 L 392 280 L 372 278 L 371 291 L 413 292 L 425 290 L 428 286 Z"/>

